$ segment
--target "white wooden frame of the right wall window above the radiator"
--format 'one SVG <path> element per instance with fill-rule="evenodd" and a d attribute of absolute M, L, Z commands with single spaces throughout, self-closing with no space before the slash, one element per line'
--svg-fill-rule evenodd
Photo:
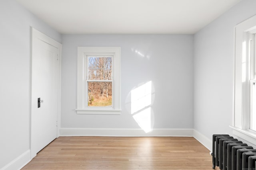
<path fill-rule="evenodd" d="M 233 134 L 256 144 L 256 132 L 250 130 L 250 81 L 254 72 L 254 45 L 252 34 L 256 33 L 256 16 L 234 27 L 234 109 Z M 252 48 L 251 48 L 252 46 Z M 253 71 L 252 71 L 253 70 Z"/>

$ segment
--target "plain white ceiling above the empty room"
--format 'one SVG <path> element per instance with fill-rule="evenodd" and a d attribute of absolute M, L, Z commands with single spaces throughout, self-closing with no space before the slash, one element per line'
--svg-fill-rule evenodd
<path fill-rule="evenodd" d="M 241 0 L 17 0 L 63 34 L 194 34 Z"/>

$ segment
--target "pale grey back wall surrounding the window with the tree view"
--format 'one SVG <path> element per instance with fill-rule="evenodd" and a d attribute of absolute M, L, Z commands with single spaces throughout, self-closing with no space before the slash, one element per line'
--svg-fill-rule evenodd
<path fill-rule="evenodd" d="M 78 46 L 121 47 L 121 115 L 76 114 Z M 140 128 L 130 93 L 149 81 L 152 128 L 193 128 L 193 35 L 62 35 L 62 49 L 62 128 Z"/>

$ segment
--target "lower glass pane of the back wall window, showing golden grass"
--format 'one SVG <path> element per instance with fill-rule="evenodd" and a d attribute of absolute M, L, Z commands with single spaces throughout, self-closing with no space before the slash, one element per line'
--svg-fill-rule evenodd
<path fill-rule="evenodd" d="M 88 106 L 112 107 L 112 82 L 88 82 Z"/>

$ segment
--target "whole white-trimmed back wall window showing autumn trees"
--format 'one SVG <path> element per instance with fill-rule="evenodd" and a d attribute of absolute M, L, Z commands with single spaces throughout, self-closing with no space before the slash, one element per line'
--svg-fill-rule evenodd
<path fill-rule="evenodd" d="M 78 47 L 77 113 L 120 114 L 120 47 Z"/>

